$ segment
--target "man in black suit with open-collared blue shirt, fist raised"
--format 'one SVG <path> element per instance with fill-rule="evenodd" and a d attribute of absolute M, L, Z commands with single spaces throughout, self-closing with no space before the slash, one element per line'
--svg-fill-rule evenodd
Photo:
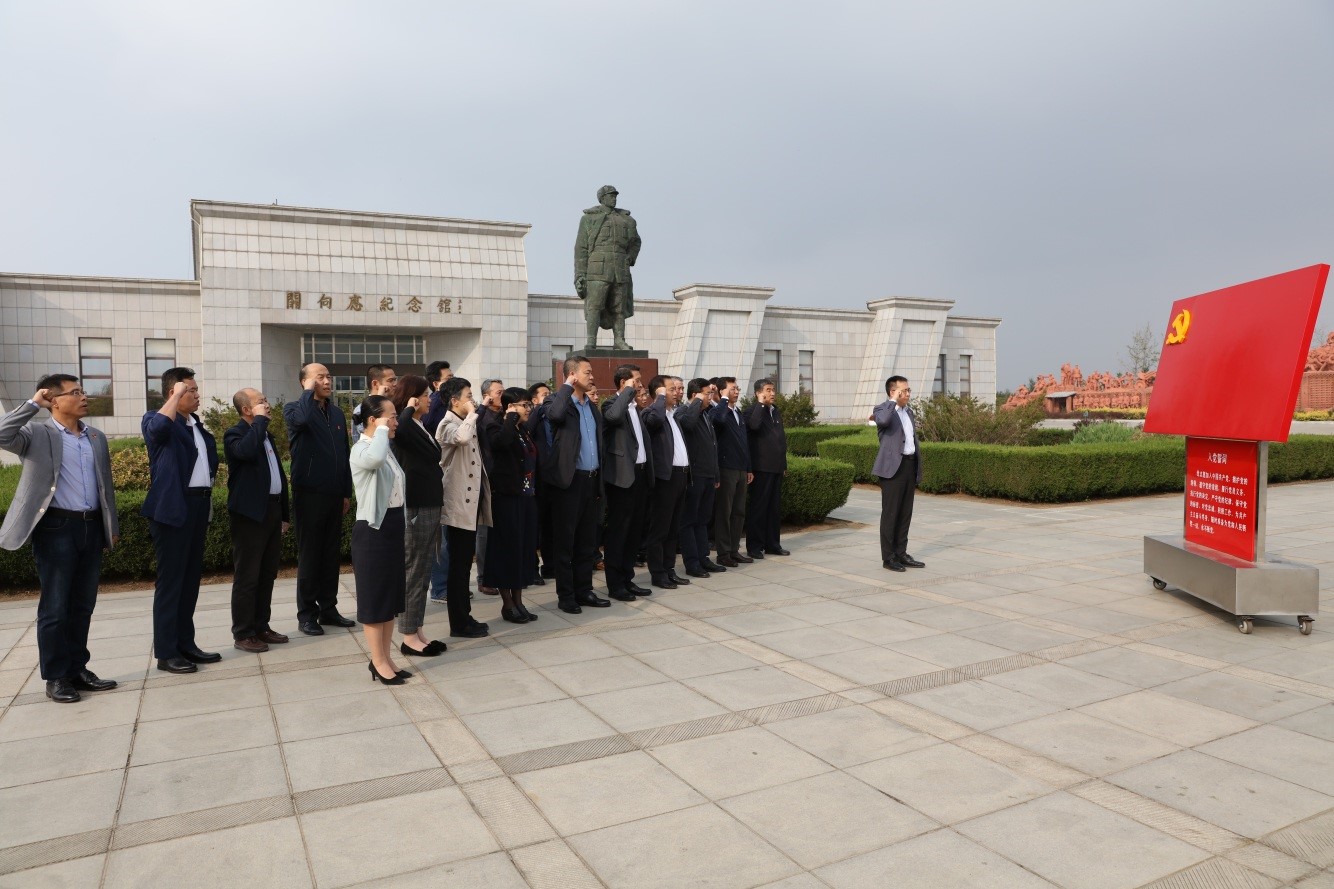
<path fill-rule="evenodd" d="M 608 607 L 592 591 L 602 521 L 602 411 L 588 396 L 594 388 L 587 358 L 567 358 L 566 382 L 544 407 L 552 428 L 551 485 L 556 489 L 552 523 L 556 543 L 556 599 L 562 611 L 580 606 Z"/>

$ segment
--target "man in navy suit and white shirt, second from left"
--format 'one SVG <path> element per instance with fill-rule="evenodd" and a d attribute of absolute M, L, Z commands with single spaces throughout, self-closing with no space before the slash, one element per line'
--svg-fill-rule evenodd
<path fill-rule="evenodd" d="M 153 586 L 153 653 L 157 669 L 193 673 L 196 663 L 223 655 L 195 643 L 195 603 L 204 573 L 204 535 L 213 507 L 217 446 L 195 415 L 199 384 L 195 371 L 172 367 L 163 374 L 167 402 L 144 414 L 140 428 L 148 443 L 148 495 L 140 510 L 157 554 Z"/>

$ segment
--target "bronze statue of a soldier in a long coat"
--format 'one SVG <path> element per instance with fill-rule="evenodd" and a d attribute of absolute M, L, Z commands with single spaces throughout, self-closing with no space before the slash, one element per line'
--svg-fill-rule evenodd
<path fill-rule="evenodd" d="M 584 300 L 586 351 L 598 348 L 598 331 L 610 330 L 612 348 L 630 351 L 626 319 L 635 314 L 630 267 L 639 258 L 639 232 L 628 210 L 616 210 L 616 190 L 598 190 L 598 206 L 584 211 L 575 239 L 575 292 Z"/>

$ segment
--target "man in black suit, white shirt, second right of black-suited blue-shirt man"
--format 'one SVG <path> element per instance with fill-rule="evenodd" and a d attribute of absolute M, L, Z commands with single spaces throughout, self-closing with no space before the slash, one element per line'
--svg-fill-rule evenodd
<path fill-rule="evenodd" d="M 654 403 L 642 418 L 654 451 L 654 491 L 648 498 L 648 578 L 654 586 L 675 590 L 690 583 L 676 574 L 676 543 L 690 479 L 690 451 L 676 423 L 676 406 L 686 394 L 679 376 L 654 376 L 648 383 Z"/>

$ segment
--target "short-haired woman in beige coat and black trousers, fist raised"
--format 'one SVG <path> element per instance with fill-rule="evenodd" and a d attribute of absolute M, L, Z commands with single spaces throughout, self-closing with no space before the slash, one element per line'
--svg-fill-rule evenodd
<path fill-rule="evenodd" d="M 478 545 L 478 526 L 491 525 L 491 485 L 478 442 L 478 407 L 472 383 L 454 376 L 440 386 L 440 399 L 450 406 L 435 430 L 444 469 L 444 507 L 440 523 L 450 549 L 450 635 L 475 639 L 487 625 L 472 618 L 468 577 Z"/>

